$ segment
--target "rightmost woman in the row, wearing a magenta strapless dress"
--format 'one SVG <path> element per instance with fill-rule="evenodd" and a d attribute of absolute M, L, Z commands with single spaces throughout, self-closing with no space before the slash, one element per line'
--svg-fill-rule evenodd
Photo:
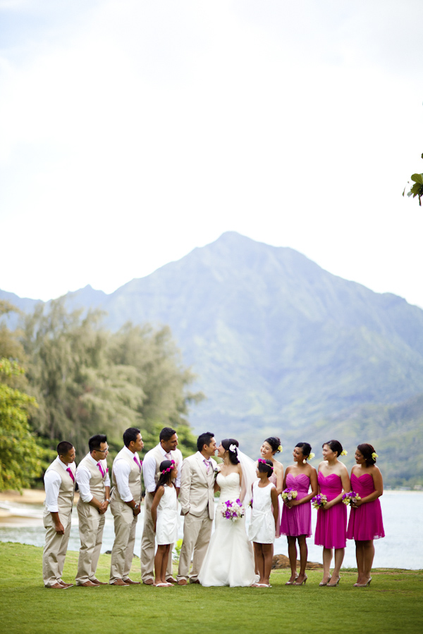
<path fill-rule="evenodd" d="M 379 467 L 376 467 L 377 454 L 372 445 L 358 445 L 355 451 L 355 464 L 351 469 L 351 488 L 361 499 L 351 502 L 350 521 L 347 538 L 355 540 L 358 578 L 355 588 L 370 585 L 374 559 L 373 540 L 385 537 L 379 497 L 384 493 L 384 483 Z"/>

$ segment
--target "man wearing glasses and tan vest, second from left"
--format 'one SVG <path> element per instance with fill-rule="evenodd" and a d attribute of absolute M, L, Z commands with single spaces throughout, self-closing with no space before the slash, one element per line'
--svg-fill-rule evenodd
<path fill-rule="evenodd" d="M 109 452 L 104 434 L 92 436 L 88 441 L 90 453 L 78 464 L 76 482 L 80 499 L 76 506 L 81 540 L 76 585 L 98 588 L 107 585 L 95 576 L 102 549 L 104 515 L 110 502 L 110 479 L 106 456 Z"/>

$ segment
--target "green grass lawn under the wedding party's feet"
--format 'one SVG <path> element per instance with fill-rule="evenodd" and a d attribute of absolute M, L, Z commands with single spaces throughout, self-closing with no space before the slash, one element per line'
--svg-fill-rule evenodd
<path fill-rule="evenodd" d="M 63 579 L 75 578 L 78 552 L 68 552 Z M 109 579 L 110 555 L 97 577 Z M 0 542 L 0 632 L 4 634 L 219 634 L 423 632 L 423 571 L 376 569 L 369 588 L 353 588 L 356 572 L 341 571 L 338 588 L 319 588 L 321 571 L 307 585 L 286 586 L 288 571 L 274 571 L 272 588 L 153 588 L 100 586 L 47 590 L 42 549 Z M 140 581 L 140 561 L 131 577 Z"/>

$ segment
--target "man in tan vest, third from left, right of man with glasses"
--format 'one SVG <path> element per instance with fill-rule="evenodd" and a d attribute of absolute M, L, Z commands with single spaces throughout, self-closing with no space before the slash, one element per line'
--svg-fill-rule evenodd
<path fill-rule="evenodd" d="M 130 427 L 123 433 L 125 447 L 114 459 L 111 473 L 111 514 L 114 516 L 115 540 L 111 550 L 111 585 L 139 585 L 129 578 L 132 565 L 135 528 L 141 504 L 141 464 L 137 452 L 144 443 L 140 430 Z"/>

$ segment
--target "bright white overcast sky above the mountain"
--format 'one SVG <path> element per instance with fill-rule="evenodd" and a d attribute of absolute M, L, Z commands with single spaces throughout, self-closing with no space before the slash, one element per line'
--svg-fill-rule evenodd
<path fill-rule="evenodd" d="M 422 0 L 0 0 L 0 288 L 235 230 L 423 307 Z"/>

